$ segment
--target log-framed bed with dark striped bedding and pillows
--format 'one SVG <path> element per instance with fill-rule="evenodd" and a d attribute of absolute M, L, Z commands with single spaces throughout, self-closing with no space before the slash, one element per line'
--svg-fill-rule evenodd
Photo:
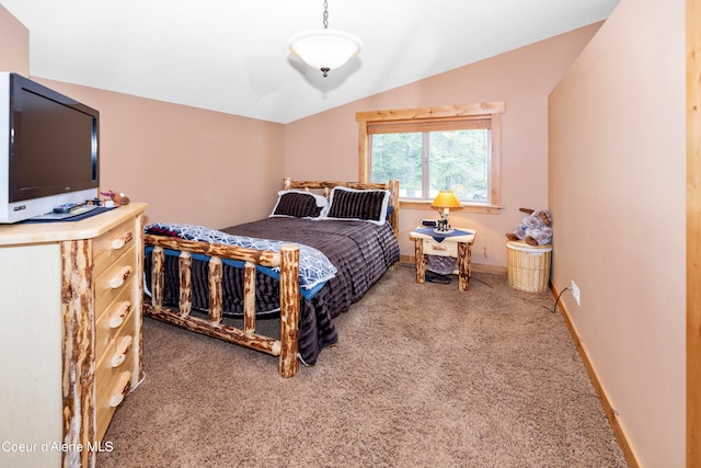
<path fill-rule="evenodd" d="M 398 264 L 398 201 L 393 180 L 285 179 L 264 219 L 151 224 L 143 313 L 277 356 L 280 376 L 292 377 L 338 341 L 333 319 Z"/>

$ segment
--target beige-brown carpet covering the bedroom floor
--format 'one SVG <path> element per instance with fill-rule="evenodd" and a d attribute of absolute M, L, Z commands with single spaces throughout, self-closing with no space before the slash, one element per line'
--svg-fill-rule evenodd
<path fill-rule="evenodd" d="M 388 272 L 340 342 L 283 379 L 275 357 L 145 319 L 146 380 L 104 467 L 624 467 L 550 293 Z"/>

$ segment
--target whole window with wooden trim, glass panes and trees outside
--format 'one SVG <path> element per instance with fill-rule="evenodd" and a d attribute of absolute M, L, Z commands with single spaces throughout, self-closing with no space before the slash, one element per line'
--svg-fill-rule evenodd
<path fill-rule="evenodd" d="M 402 204 L 452 190 L 463 205 L 498 209 L 503 112 L 499 102 L 358 113 L 360 180 L 399 180 Z"/>

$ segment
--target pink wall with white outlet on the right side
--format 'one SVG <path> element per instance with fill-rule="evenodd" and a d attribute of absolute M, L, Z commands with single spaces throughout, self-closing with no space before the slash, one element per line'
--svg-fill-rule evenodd
<path fill-rule="evenodd" d="M 554 287 L 633 450 L 685 466 L 685 1 L 622 0 L 550 98 Z"/>

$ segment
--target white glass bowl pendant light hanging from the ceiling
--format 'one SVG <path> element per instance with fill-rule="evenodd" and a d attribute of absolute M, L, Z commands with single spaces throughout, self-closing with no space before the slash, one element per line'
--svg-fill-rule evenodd
<path fill-rule="evenodd" d="M 289 38 L 289 52 L 324 77 L 360 53 L 363 42 L 355 35 L 329 28 L 329 2 L 324 0 L 324 28 L 302 31 Z"/>

